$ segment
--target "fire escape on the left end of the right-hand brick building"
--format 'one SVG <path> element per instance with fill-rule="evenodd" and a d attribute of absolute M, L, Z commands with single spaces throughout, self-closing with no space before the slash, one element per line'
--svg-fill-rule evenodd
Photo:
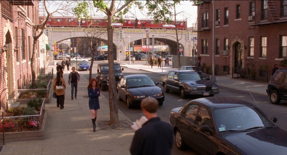
<path fill-rule="evenodd" d="M 209 28 L 209 4 L 212 1 L 200 1 L 198 4 L 194 4 L 195 6 L 199 6 L 197 10 L 197 20 L 196 23 L 192 24 L 193 32 L 200 32 L 200 31 L 210 31 Z"/>

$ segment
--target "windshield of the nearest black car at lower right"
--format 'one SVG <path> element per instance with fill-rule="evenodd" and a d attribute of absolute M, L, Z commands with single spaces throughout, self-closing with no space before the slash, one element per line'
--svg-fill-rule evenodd
<path fill-rule="evenodd" d="M 213 110 L 218 132 L 266 128 L 275 124 L 254 106 L 240 106 Z"/>

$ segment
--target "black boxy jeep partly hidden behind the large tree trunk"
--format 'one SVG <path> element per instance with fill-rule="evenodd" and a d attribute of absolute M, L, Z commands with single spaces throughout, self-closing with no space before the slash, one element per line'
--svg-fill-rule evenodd
<path fill-rule="evenodd" d="M 116 83 L 118 83 L 121 80 L 121 72 L 124 70 L 124 68 L 121 68 L 119 63 L 114 63 L 114 69 Z M 109 86 L 109 63 L 98 64 L 96 79 L 100 84 L 101 91 L 105 91 L 106 88 Z"/>

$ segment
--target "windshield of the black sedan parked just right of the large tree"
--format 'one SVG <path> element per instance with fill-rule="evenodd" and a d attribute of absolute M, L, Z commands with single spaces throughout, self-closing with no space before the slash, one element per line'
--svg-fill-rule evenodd
<path fill-rule="evenodd" d="M 150 77 L 136 77 L 127 79 L 127 88 L 155 86 L 155 82 Z"/>

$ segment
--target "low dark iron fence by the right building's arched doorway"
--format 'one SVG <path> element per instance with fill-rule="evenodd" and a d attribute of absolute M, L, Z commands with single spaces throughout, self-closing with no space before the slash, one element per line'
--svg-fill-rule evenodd
<path fill-rule="evenodd" d="M 260 82 L 269 82 L 271 75 L 268 70 L 250 68 L 232 68 L 232 78 L 249 79 Z"/>

